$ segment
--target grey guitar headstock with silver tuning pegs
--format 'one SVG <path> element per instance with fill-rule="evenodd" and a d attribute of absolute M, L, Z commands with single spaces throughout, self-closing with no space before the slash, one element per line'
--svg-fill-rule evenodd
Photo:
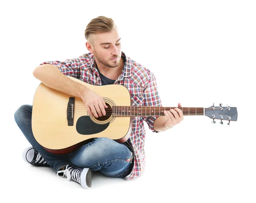
<path fill-rule="evenodd" d="M 223 107 L 223 104 L 219 106 L 214 106 L 204 109 L 204 115 L 212 118 L 212 123 L 216 123 L 215 119 L 221 120 L 220 124 L 223 124 L 223 120 L 228 121 L 228 125 L 230 125 L 230 121 L 237 121 L 237 109 L 236 107 Z"/>

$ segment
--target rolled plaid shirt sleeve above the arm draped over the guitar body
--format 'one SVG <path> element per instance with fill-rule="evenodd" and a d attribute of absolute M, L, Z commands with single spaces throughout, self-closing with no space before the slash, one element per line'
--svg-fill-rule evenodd
<path fill-rule="evenodd" d="M 40 65 L 44 64 L 51 64 L 56 66 L 61 73 L 63 73 L 66 76 L 71 76 L 74 78 L 80 77 L 80 62 L 79 59 L 67 59 L 63 62 L 61 61 L 45 61 L 41 63 Z"/>

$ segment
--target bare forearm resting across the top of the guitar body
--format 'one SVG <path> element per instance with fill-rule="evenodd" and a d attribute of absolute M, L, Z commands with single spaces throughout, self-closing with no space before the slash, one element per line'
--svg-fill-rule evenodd
<path fill-rule="evenodd" d="M 80 98 L 88 89 L 86 86 L 65 76 L 54 65 L 40 65 L 35 68 L 33 75 L 48 87 Z"/>

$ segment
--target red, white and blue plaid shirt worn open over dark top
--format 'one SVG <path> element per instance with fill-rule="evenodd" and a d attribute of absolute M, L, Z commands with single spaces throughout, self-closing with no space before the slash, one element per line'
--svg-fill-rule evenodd
<path fill-rule="evenodd" d="M 157 92 L 157 84 L 154 74 L 143 65 L 131 60 L 125 56 L 126 62 L 121 75 L 116 79 L 114 84 L 124 85 L 131 94 L 133 106 L 162 106 L 160 96 Z M 42 64 L 51 64 L 59 68 L 59 70 L 67 76 L 78 78 L 91 85 L 102 85 L 99 72 L 96 68 L 96 61 L 93 54 L 87 53 L 79 56 L 79 58 L 67 59 L 64 62 L 46 61 Z M 40 64 L 40 65 L 42 65 Z M 153 124 L 158 116 L 142 116 L 132 119 L 131 136 L 128 142 L 134 150 L 134 167 L 131 173 L 126 176 L 126 180 L 140 177 L 145 169 L 145 128 L 143 121 L 148 124 L 152 132 Z"/>

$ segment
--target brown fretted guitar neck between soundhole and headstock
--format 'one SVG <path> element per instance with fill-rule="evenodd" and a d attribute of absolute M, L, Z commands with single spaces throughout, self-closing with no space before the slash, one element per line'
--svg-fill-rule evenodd
<path fill-rule="evenodd" d="M 204 116 L 203 107 L 142 107 L 142 106 L 113 106 L 113 117 L 129 116 L 165 116 L 164 110 L 179 108 L 184 116 Z"/>

